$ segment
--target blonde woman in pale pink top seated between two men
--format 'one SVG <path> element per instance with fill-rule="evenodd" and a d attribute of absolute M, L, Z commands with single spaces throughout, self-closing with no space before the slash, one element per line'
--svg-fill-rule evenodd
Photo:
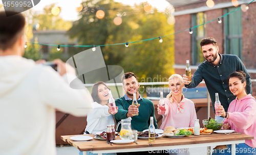
<path fill-rule="evenodd" d="M 162 125 L 160 129 L 164 130 L 166 126 L 174 127 L 194 127 L 197 113 L 194 102 L 187 99 L 182 94 L 182 76 L 173 74 L 169 77 L 170 93 L 164 98 L 165 113 L 162 115 Z M 158 114 L 161 109 L 158 107 Z"/>

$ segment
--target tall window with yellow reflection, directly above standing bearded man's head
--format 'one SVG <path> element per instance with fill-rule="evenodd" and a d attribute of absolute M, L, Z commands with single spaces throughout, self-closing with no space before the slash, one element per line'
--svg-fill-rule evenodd
<path fill-rule="evenodd" d="M 199 12 L 197 14 L 192 15 L 192 27 L 203 24 L 206 22 L 206 14 L 204 12 Z M 192 51 L 191 51 L 191 64 L 199 65 L 203 62 L 204 56 L 202 53 L 202 49 L 200 47 L 200 41 L 205 38 L 205 27 L 206 25 L 201 25 L 195 29 L 193 29 L 192 34 Z"/>

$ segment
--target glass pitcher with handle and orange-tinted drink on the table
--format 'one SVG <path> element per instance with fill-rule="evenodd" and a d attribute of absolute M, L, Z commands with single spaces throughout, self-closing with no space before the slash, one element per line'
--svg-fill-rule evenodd
<path fill-rule="evenodd" d="M 132 139 L 132 127 L 131 127 L 131 117 L 122 119 L 120 122 L 118 122 L 117 127 L 121 123 L 121 130 L 120 130 L 120 138 L 121 139 Z"/>

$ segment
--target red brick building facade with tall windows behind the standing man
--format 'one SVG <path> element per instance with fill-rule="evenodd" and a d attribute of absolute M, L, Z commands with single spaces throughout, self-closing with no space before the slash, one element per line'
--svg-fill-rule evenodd
<path fill-rule="evenodd" d="M 189 31 L 175 34 L 173 67 L 176 73 L 185 74 L 186 60 L 190 60 L 190 68 L 194 74 L 198 65 L 205 61 L 199 44 L 201 39 L 213 37 L 218 42 L 220 54 L 237 55 L 251 79 L 256 79 L 255 2 L 237 1 L 238 6 L 234 7 L 231 0 L 214 0 L 214 7 L 209 8 L 206 0 L 167 1 L 175 8 L 175 33 L 190 28 L 193 31 L 193 34 L 189 34 Z M 249 7 L 245 12 L 239 9 L 243 4 L 248 4 Z M 218 17 L 221 23 L 218 22 Z M 256 95 L 256 82 L 252 82 L 252 95 Z"/>

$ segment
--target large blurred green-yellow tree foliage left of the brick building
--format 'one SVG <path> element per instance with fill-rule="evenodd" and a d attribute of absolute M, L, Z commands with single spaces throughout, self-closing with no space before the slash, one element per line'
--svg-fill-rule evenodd
<path fill-rule="evenodd" d="M 80 19 L 73 23 L 69 30 L 72 39 L 77 38 L 79 45 L 104 45 L 139 41 L 174 33 L 174 25 L 167 23 L 166 14 L 154 10 L 146 13 L 144 4 L 135 8 L 123 6 L 113 0 L 93 0 L 83 2 L 84 10 Z M 103 19 L 97 19 L 95 14 L 103 10 Z M 122 18 L 120 25 L 115 25 L 116 16 Z M 132 71 L 138 77 L 169 77 L 175 73 L 174 35 L 150 41 L 130 43 L 129 47 L 122 45 L 101 46 L 106 65 L 120 65 L 124 72 Z M 70 52 L 75 55 L 92 47 L 78 47 Z M 140 80 L 140 79 L 139 79 Z M 146 81 L 144 81 L 146 82 Z"/>

